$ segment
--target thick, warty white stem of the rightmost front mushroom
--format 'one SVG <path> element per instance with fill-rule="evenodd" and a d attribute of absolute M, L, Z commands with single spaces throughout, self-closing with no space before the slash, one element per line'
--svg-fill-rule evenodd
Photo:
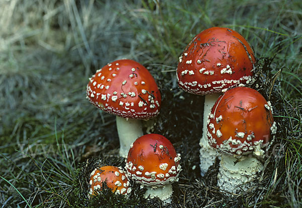
<path fill-rule="evenodd" d="M 217 185 L 221 190 L 241 193 L 256 185 L 255 179 L 263 165 L 254 157 L 244 156 L 237 160 L 230 155 L 222 155 Z"/>

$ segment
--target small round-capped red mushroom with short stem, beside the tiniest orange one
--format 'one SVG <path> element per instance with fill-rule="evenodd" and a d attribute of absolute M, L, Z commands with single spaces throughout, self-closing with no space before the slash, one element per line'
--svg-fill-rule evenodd
<path fill-rule="evenodd" d="M 131 145 L 125 169 L 129 179 L 146 186 L 145 197 L 171 202 L 172 183 L 178 181 L 181 166 L 171 142 L 156 133 L 143 135 Z"/>

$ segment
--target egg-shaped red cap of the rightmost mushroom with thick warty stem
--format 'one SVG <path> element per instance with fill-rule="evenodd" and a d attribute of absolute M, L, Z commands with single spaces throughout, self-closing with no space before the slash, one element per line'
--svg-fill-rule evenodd
<path fill-rule="evenodd" d="M 221 95 L 212 107 L 208 142 L 220 153 L 250 153 L 270 142 L 272 125 L 270 102 L 254 89 L 236 87 Z"/>

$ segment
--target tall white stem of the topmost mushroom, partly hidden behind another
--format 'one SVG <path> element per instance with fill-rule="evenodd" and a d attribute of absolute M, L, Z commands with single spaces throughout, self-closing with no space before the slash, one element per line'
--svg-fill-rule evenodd
<path fill-rule="evenodd" d="M 214 164 L 216 157 L 220 157 L 215 150 L 213 150 L 207 139 L 207 120 L 208 115 L 211 112 L 211 108 L 218 99 L 220 93 L 214 93 L 210 95 L 205 95 L 204 107 L 203 107 L 203 127 L 202 127 L 202 137 L 200 138 L 200 174 L 204 176 L 209 167 Z"/>

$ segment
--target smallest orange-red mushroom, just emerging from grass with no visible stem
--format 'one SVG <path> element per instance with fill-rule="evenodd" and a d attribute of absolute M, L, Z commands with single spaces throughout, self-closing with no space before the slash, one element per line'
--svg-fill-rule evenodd
<path fill-rule="evenodd" d="M 106 182 L 112 192 L 128 195 L 131 193 L 131 184 L 122 168 L 115 166 L 103 166 L 96 168 L 90 174 L 90 195 L 95 195 L 96 190 L 102 190 L 103 182 Z"/>

